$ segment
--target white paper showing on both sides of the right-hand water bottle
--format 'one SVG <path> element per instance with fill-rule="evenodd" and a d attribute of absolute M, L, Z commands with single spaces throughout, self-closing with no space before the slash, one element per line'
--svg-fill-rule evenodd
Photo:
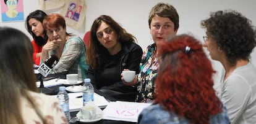
<path fill-rule="evenodd" d="M 68 93 L 69 94 L 69 110 L 70 112 L 79 111 L 83 107 L 83 97 L 77 98 L 77 96 L 82 96 L 83 93 Z M 54 95 L 57 97 L 57 95 Z M 103 108 L 108 105 L 108 101 L 103 97 L 94 93 L 94 103 L 96 106 Z"/>

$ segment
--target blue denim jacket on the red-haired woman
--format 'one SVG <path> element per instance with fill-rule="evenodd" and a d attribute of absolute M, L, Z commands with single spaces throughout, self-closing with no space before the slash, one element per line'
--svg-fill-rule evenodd
<path fill-rule="evenodd" d="M 169 110 L 164 110 L 160 104 L 152 104 L 151 106 L 143 109 L 139 115 L 138 123 L 141 124 L 189 124 L 189 120 L 184 117 L 179 117 L 175 113 L 170 113 Z M 227 124 L 229 122 L 227 110 L 223 107 L 223 112 L 216 114 L 210 118 L 211 124 Z"/>

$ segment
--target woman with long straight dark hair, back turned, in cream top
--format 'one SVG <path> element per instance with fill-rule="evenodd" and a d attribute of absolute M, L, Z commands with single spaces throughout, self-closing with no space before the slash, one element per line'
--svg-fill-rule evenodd
<path fill-rule="evenodd" d="M 58 99 L 38 93 L 30 39 L 0 28 L 0 123 L 68 123 Z"/>

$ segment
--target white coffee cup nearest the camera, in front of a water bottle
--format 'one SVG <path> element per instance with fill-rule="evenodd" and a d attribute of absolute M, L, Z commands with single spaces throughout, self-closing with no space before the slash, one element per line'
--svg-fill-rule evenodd
<path fill-rule="evenodd" d="M 92 120 L 96 115 L 95 106 L 83 106 L 81 108 L 81 115 L 85 120 Z"/>

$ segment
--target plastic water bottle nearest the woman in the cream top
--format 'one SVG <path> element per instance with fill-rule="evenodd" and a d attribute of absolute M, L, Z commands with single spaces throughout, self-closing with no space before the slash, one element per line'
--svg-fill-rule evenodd
<path fill-rule="evenodd" d="M 70 112 L 69 112 L 69 95 L 66 92 L 65 87 L 59 87 L 59 93 L 57 95 L 57 98 L 59 99 L 59 104 L 61 104 L 61 108 L 64 111 L 67 121 L 70 120 Z"/>

